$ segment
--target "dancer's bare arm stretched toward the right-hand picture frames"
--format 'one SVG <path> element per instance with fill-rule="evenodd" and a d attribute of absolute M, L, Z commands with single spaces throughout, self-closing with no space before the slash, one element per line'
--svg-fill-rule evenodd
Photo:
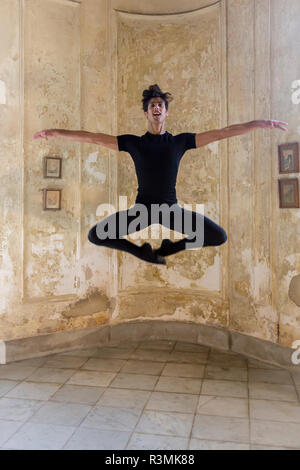
<path fill-rule="evenodd" d="M 245 122 L 244 124 L 233 124 L 232 126 L 224 127 L 223 129 L 214 129 L 212 131 L 196 134 L 196 147 L 203 147 L 204 145 L 215 142 L 216 140 L 246 134 L 247 132 L 251 132 L 255 129 L 281 129 L 286 131 L 287 125 L 287 122 L 267 120 L 250 121 Z"/>

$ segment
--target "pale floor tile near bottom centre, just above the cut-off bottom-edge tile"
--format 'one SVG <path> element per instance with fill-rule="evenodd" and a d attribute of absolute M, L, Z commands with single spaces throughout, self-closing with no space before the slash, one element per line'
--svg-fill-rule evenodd
<path fill-rule="evenodd" d="M 192 414 L 144 411 L 135 431 L 146 434 L 188 437 L 192 423 Z"/>

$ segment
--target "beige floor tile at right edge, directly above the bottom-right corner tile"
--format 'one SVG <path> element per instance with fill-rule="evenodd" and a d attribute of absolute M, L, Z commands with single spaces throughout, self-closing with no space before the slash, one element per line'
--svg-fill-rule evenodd
<path fill-rule="evenodd" d="M 300 423 L 300 404 L 287 401 L 249 400 L 250 418 Z"/>

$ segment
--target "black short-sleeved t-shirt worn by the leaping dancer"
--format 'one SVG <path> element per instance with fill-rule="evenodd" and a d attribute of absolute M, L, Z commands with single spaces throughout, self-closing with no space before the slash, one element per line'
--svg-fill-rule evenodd
<path fill-rule="evenodd" d="M 136 203 L 174 204 L 179 163 L 184 153 L 196 148 L 196 134 L 173 136 L 169 132 L 142 136 L 118 135 L 120 151 L 128 152 L 135 165 L 138 194 Z"/>

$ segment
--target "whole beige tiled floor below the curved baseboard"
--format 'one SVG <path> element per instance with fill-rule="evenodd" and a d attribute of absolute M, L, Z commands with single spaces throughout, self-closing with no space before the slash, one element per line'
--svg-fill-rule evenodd
<path fill-rule="evenodd" d="M 171 341 L 0 366 L 0 449 L 300 449 L 299 373 Z"/>

